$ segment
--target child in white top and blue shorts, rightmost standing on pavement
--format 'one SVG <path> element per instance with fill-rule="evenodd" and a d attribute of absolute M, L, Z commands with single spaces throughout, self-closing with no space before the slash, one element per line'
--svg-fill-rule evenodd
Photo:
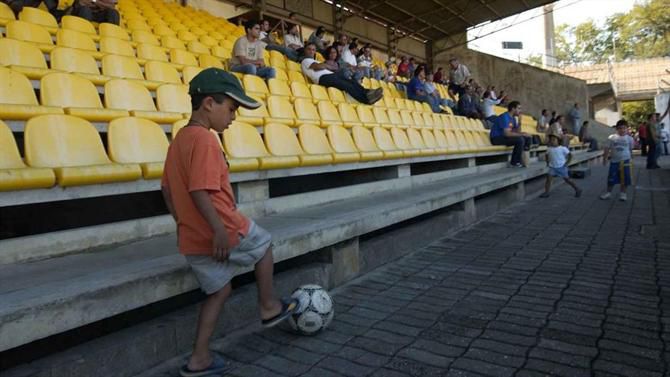
<path fill-rule="evenodd" d="M 631 156 L 633 155 L 633 138 L 626 134 L 628 122 L 620 120 L 616 124 L 616 133 L 607 139 L 607 147 L 603 155 L 603 166 L 610 161 L 610 170 L 607 176 L 607 192 L 600 195 L 600 199 L 607 200 L 612 197 L 614 185 L 621 186 L 619 200 L 626 201 L 626 187 L 631 184 Z"/>

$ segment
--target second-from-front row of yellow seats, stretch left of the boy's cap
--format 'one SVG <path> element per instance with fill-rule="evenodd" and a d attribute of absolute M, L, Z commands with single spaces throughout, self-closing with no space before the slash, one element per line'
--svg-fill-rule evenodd
<path fill-rule="evenodd" d="M 87 79 L 68 73 L 51 73 L 41 80 L 40 102 L 30 81 L 20 73 L 0 67 L 0 118 L 25 120 L 40 114 L 70 114 L 92 122 L 133 115 L 158 123 L 188 117 L 190 99 L 185 85 L 165 84 L 149 90 L 135 81 L 114 79 L 104 86 L 104 102 Z"/>

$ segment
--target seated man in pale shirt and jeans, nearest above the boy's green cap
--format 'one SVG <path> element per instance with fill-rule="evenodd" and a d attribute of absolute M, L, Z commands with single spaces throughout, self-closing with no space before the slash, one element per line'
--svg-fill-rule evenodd
<path fill-rule="evenodd" d="M 247 21 L 244 24 L 245 36 L 238 38 L 233 46 L 233 57 L 230 59 L 230 70 L 248 75 L 256 75 L 264 79 L 275 77 L 275 69 L 266 67 L 263 61 L 265 42 L 258 39 L 261 26 L 258 21 Z"/>

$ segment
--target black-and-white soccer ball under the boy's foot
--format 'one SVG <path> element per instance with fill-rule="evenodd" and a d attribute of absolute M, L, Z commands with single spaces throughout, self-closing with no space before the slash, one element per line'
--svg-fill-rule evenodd
<path fill-rule="evenodd" d="M 298 300 L 298 307 L 289 317 L 288 323 L 303 335 L 314 335 L 325 329 L 333 320 L 333 300 L 325 289 L 316 284 L 298 287 L 291 297 Z"/>

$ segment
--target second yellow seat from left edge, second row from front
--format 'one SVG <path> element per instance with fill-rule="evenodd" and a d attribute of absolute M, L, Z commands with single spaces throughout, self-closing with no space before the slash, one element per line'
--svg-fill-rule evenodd
<path fill-rule="evenodd" d="M 65 114 L 90 122 L 108 122 L 128 116 L 124 110 L 104 109 L 93 83 L 69 73 L 54 72 L 42 77 L 40 102 L 63 108 Z"/>

